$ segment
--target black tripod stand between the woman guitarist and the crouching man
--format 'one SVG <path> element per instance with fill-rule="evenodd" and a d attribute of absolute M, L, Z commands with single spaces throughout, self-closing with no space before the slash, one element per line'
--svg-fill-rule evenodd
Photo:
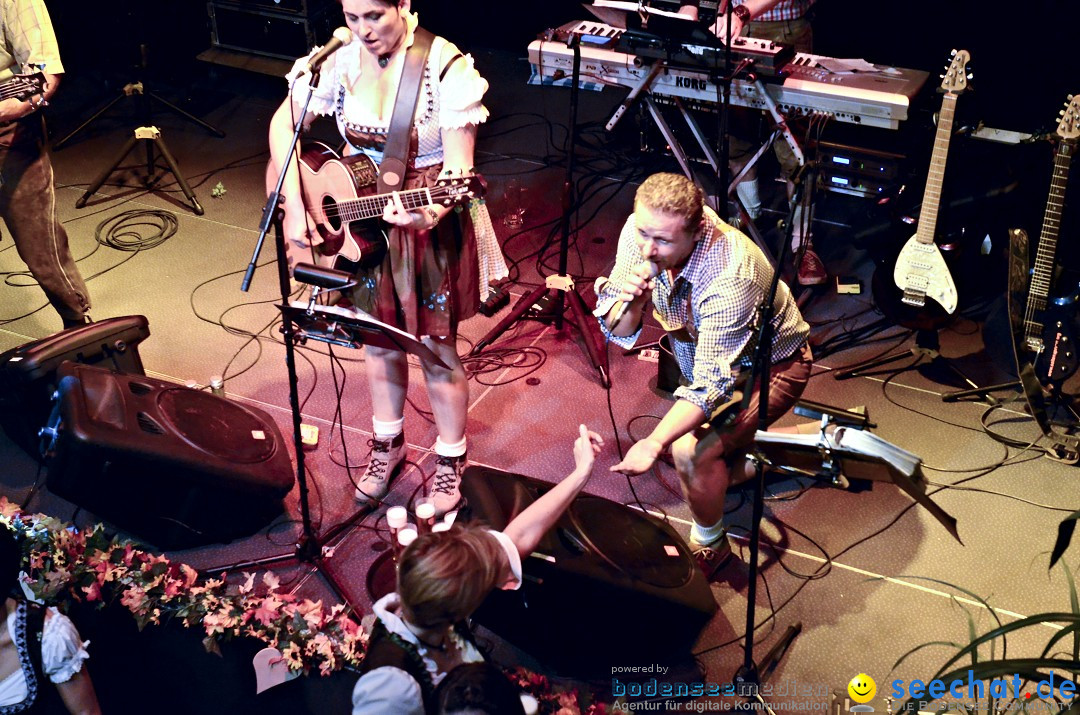
<path fill-rule="evenodd" d="M 582 341 L 585 343 L 585 352 L 589 353 L 589 360 L 592 361 L 593 367 L 599 373 L 600 385 L 609 388 L 611 387 L 611 378 L 608 374 L 607 353 L 604 351 L 599 328 L 596 325 L 596 321 L 590 316 L 585 301 L 575 287 L 573 278 L 566 272 L 567 255 L 570 249 L 570 214 L 573 211 L 575 203 L 573 159 L 578 140 L 578 81 L 581 77 L 581 36 L 571 33 L 567 38 L 566 43 L 573 50 L 573 70 L 570 78 L 570 126 L 567 139 L 566 180 L 563 184 L 563 222 L 562 238 L 558 246 L 558 274 L 546 276 L 543 285 L 522 297 L 514 305 L 510 314 L 481 338 L 469 354 L 475 355 L 499 339 L 499 336 L 524 316 L 534 303 L 553 291 L 555 298 L 555 329 L 563 329 L 564 301 L 568 300 L 570 312 L 573 313 L 573 322 L 581 333 Z"/>

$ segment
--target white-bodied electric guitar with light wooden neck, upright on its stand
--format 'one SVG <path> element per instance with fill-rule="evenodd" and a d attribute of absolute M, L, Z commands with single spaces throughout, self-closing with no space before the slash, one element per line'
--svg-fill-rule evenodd
<path fill-rule="evenodd" d="M 942 92 L 945 93 L 942 99 L 942 108 L 937 114 L 937 131 L 934 135 L 933 153 L 930 157 L 930 170 L 927 175 L 927 189 L 922 198 L 922 207 L 919 211 L 918 229 L 896 256 L 896 264 L 893 267 L 892 279 L 896 288 L 902 292 L 900 302 L 909 307 L 904 311 L 912 313 L 914 318 L 900 319 L 896 322 L 909 327 L 926 328 L 928 322 L 940 323 L 923 315 L 928 306 L 927 298 L 931 298 L 944 311 L 950 315 L 956 311 L 957 291 L 953 274 L 942 256 L 937 244 L 934 243 L 934 233 L 937 227 L 937 210 L 941 206 L 942 185 L 945 177 L 945 160 L 948 158 L 949 140 L 953 137 L 953 118 L 956 113 L 956 100 L 960 94 L 968 89 L 968 62 L 971 55 L 966 50 L 954 50 L 953 60 L 945 73 L 942 76 Z M 883 280 L 875 280 L 875 284 L 883 284 Z M 875 291 L 875 300 L 882 312 L 889 314 L 887 306 L 891 302 L 885 294 L 885 285 Z M 883 303 L 883 305 L 882 305 Z M 897 311 L 899 312 L 899 311 Z"/>

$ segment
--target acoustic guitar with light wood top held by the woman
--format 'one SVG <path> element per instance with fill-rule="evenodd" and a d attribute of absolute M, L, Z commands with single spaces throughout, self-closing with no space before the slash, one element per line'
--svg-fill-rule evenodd
<path fill-rule="evenodd" d="M 365 154 L 340 157 L 321 141 L 300 147 L 300 186 L 303 203 L 315 224 L 319 237 L 313 241 L 314 260 L 335 267 L 339 259 L 354 267 L 372 268 L 382 262 L 387 235 L 380 220 L 387 201 L 393 194 L 376 193 L 379 170 Z M 280 167 L 267 165 L 267 192 L 274 189 Z M 399 191 L 406 210 L 424 206 L 453 206 L 480 198 L 487 189 L 478 174 L 438 179 L 434 186 Z M 312 260 L 312 248 L 285 242 L 289 270 L 299 261 Z"/>

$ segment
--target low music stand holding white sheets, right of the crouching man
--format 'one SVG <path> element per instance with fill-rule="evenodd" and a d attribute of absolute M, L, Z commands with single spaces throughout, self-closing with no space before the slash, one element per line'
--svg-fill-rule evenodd
<path fill-rule="evenodd" d="M 816 434 L 781 434 L 758 430 L 754 437 L 755 453 L 766 468 L 775 472 L 811 476 L 842 484 L 846 477 L 890 482 L 905 491 L 960 541 L 956 518 L 935 504 L 927 495 L 922 477 L 922 459 L 876 434 L 853 427 L 837 427 L 832 434 L 825 428 L 833 423 L 822 417 Z M 960 543 L 963 543 L 960 541 Z"/>

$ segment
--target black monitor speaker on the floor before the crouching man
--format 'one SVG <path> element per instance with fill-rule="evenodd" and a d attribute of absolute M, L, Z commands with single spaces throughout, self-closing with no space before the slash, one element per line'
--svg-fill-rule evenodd
<path fill-rule="evenodd" d="M 551 488 L 470 467 L 460 518 L 503 528 Z M 524 559 L 517 591 L 496 591 L 474 620 L 562 674 L 689 656 L 716 601 L 685 541 L 653 516 L 582 495 Z"/>

